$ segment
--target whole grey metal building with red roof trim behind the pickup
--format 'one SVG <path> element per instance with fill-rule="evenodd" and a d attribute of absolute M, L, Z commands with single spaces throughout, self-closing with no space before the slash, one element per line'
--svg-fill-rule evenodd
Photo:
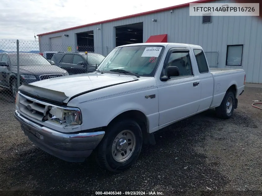
<path fill-rule="evenodd" d="M 228 0 L 200 0 L 232 3 Z M 189 3 L 38 35 L 40 52 L 82 51 L 106 55 L 141 42 L 200 45 L 211 68 L 242 68 L 246 82 L 262 83 L 262 21 L 255 16 L 189 16 Z"/>

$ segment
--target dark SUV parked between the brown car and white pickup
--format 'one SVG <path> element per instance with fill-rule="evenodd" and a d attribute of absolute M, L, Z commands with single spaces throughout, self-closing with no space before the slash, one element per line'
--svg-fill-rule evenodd
<path fill-rule="evenodd" d="M 95 71 L 105 57 L 94 52 L 58 52 L 51 61 L 65 69 L 69 75 Z"/>

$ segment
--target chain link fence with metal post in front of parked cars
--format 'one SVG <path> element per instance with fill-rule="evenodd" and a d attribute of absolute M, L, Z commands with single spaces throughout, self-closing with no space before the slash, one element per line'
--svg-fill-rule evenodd
<path fill-rule="evenodd" d="M 15 102 L 22 84 L 93 72 L 113 48 L 0 40 L 0 107 Z M 20 77 L 17 77 L 20 76 Z"/>

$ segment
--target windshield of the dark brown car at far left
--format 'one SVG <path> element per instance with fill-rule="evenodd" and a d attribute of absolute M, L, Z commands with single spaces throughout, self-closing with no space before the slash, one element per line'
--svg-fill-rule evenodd
<path fill-rule="evenodd" d="M 10 55 L 12 66 L 17 66 L 16 54 Z M 24 65 L 51 65 L 47 59 L 40 54 L 19 54 L 19 66 Z"/>

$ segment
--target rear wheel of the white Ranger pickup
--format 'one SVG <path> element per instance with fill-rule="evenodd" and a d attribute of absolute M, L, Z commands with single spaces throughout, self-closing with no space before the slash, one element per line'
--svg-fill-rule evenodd
<path fill-rule="evenodd" d="M 220 106 L 215 108 L 217 117 L 229 119 L 234 111 L 235 95 L 232 91 L 227 91 Z"/>

